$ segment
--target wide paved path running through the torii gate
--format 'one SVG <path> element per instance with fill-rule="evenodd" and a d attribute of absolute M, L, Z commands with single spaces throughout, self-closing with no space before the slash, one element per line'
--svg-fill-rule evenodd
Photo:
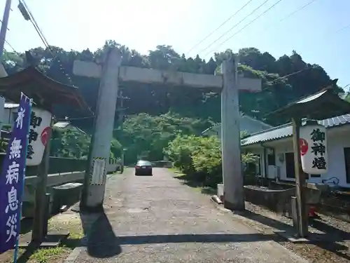
<path fill-rule="evenodd" d="M 167 169 L 110 178 L 105 215 L 70 262 L 307 262 L 190 189 Z M 72 258 L 72 257 L 71 257 Z"/>

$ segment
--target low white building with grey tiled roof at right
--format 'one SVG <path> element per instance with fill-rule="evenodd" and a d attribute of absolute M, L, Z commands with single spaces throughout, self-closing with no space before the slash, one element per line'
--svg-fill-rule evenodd
<path fill-rule="evenodd" d="M 318 121 L 327 128 L 328 173 L 309 175 L 308 182 L 322 183 L 332 177 L 339 179 L 339 187 L 350 187 L 350 114 Z M 241 140 L 242 151 L 250 151 L 259 158 L 256 173 L 269 179 L 294 181 L 294 154 L 290 123 L 263 130 Z"/>

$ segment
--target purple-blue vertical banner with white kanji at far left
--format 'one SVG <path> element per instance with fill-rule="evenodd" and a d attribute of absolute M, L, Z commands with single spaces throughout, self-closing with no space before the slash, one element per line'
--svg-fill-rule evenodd
<path fill-rule="evenodd" d="M 31 100 L 21 93 L 0 175 L 0 254 L 18 245 L 30 116 Z"/>

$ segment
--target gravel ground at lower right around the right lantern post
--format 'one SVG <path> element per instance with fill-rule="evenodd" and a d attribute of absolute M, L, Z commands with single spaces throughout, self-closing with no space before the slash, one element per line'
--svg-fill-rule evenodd
<path fill-rule="evenodd" d="M 293 222 L 289 218 L 252 203 L 246 202 L 246 213 L 243 214 L 244 216 L 232 215 L 232 217 L 263 234 L 292 229 Z M 309 232 L 321 234 L 322 241 L 290 243 L 278 236 L 275 241 L 310 263 L 350 262 L 350 224 L 326 215 L 318 214 L 318 217 L 317 220 L 310 222 Z"/>

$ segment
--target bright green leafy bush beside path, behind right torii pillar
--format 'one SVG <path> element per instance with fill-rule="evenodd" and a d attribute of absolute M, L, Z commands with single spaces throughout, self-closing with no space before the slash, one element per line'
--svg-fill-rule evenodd
<path fill-rule="evenodd" d="M 169 142 L 165 154 L 191 180 L 211 187 L 222 182 L 221 141 L 216 136 L 177 135 Z M 253 163 L 255 156 L 242 154 L 241 161 Z"/>

